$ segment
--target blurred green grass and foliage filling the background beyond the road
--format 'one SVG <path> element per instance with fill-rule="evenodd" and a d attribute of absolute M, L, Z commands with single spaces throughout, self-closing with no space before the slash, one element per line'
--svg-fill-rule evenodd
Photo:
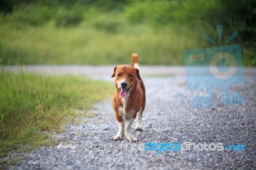
<path fill-rule="evenodd" d="M 256 65 L 256 1 L 253 0 L 3 0 L 0 6 L 3 13 L 0 31 L 10 30 L 10 35 L 0 33 L 4 35 L 0 40 L 0 63 L 4 65 L 121 63 L 129 61 L 121 58 L 131 52 L 147 57 L 143 61 L 145 64 L 182 65 L 183 50 L 209 46 L 200 37 L 203 32 L 217 40 L 217 24 L 223 25 L 223 42 L 234 31 L 239 33 L 239 38 L 232 43 L 241 44 L 244 65 Z M 14 33 L 33 30 L 35 35 L 28 36 L 37 37 L 40 34 L 37 31 L 43 31 L 47 32 L 44 36 L 58 38 L 55 35 L 60 28 L 64 34 L 83 33 L 74 34 L 84 40 L 76 42 L 76 38 L 60 38 L 60 42 L 56 42 L 41 38 L 44 43 L 52 43 L 51 46 L 58 44 L 68 48 L 68 54 L 58 52 L 58 49 L 42 49 L 42 45 L 33 47 L 32 44 L 29 49 L 19 45 L 15 38 L 17 33 Z M 29 41 L 29 37 L 23 38 Z M 93 39 L 88 42 L 88 38 Z M 30 41 L 37 44 L 33 38 Z M 76 47 L 72 46 L 74 43 Z M 82 49 L 84 46 L 86 50 Z M 72 60 L 67 61 L 65 55 L 72 56 Z"/>

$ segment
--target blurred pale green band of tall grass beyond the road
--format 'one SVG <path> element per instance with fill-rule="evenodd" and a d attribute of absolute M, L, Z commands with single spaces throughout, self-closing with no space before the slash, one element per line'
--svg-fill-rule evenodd
<path fill-rule="evenodd" d="M 95 22 L 102 24 L 101 19 Z M 131 53 L 137 52 L 144 65 L 181 65 L 183 50 L 197 45 L 186 28 L 182 34 L 187 36 L 170 29 L 172 26 L 156 30 L 147 24 L 119 23 L 113 28 L 115 33 L 109 32 L 108 26 L 99 27 L 95 29 L 95 25 L 86 22 L 77 27 L 54 27 L 53 23 L 42 27 L 3 24 L 0 64 L 113 65 L 130 63 Z"/>

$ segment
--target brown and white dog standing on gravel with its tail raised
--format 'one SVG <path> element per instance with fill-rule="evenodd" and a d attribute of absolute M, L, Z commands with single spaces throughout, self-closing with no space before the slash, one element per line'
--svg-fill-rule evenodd
<path fill-rule="evenodd" d="M 132 54 L 132 66 L 115 66 L 112 77 L 115 77 L 116 91 L 113 97 L 113 109 L 118 121 L 118 132 L 113 140 L 120 140 L 125 134 L 129 141 L 137 141 L 131 133 L 131 126 L 138 115 L 136 130 L 141 129 L 142 112 L 145 109 L 145 86 L 138 68 L 138 54 Z"/>

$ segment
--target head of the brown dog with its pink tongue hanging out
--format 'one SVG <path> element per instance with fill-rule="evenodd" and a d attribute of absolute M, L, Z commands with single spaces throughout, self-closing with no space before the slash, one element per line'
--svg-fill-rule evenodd
<path fill-rule="evenodd" d="M 137 78 L 141 80 L 138 68 L 129 65 L 115 66 L 112 77 L 115 77 L 116 89 L 120 97 L 125 98 L 135 88 Z"/>

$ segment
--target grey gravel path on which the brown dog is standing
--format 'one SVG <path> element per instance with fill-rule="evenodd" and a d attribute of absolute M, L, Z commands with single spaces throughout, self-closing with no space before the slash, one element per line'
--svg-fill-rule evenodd
<path fill-rule="evenodd" d="M 113 81 L 110 77 L 113 66 L 28 66 L 23 69 Z M 24 157 L 8 169 L 256 169 L 256 69 L 246 68 L 244 73 L 244 85 L 233 88 L 244 96 L 243 105 L 221 105 L 221 89 L 217 88 L 212 108 L 193 108 L 189 102 L 197 93 L 186 88 L 184 68 L 141 66 L 147 105 L 142 119 L 143 131 L 132 130 L 132 133 L 138 137 L 135 144 L 151 141 L 243 144 L 245 151 L 131 151 L 132 143 L 127 140 L 111 140 L 118 125 L 109 97 L 88 111 L 95 117 L 81 118 L 78 125 L 71 123 L 65 132 L 54 135 L 58 141 L 55 146 L 38 148 L 31 153 L 14 153 L 6 158 Z M 121 144 L 129 144 L 128 149 L 121 150 Z"/>

